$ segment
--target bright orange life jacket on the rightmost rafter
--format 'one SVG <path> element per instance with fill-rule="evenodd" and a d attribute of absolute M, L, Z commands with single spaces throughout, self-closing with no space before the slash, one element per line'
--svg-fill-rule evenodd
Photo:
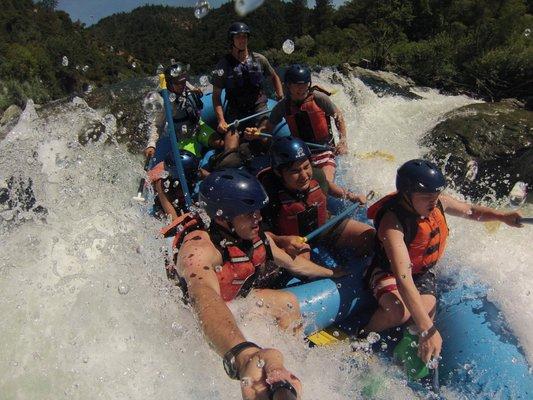
<path fill-rule="evenodd" d="M 440 201 L 427 218 L 405 209 L 399 201 L 398 193 L 391 193 L 369 207 L 367 216 L 374 220 L 377 231 L 385 213 L 387 211 L 394 213 L 402 225 L 404 242 L 412 263 L 411 271 L 415 275 L 433 267 L 444 254 L 449 233 L 448 224 Z M 376 265 L 390 271 L 389 258 L 377 235 L 376 241 L 378 243 L 374 259 Z"/>

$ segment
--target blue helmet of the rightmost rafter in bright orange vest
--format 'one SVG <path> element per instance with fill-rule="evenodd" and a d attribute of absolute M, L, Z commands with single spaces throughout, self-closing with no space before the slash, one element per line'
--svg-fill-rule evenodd
<path fill-rule="evenodd" d="M 438 193 L 446 187 L 440 169 L 426 160 L 410 160 L 398 168 L 396 189 L 403 193 Z"/>

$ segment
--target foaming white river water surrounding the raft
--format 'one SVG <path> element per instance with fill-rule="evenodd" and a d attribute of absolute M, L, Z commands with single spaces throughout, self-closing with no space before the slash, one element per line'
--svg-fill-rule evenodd
<path fill-rule="evenodd" d="M 417 101 L 378 96 L 357 79 L 332 85 L 331 74 L 318 80 L 339 89 L 333 100 L 344 112 L 351 148 L 339 173 L 360 192 L 391 191 L 398 165 L 424 154 L 423 134 L 474 102 L 422 89 Z M 80 145 L 95 123 L 104 134 Z M 238 382 L 227 379 L 166 279 L 161 225 L 132 200 L 143 175 L 140 156 L 118 145 L 116 133 L 113 115 L 76 98 L 42 108 L 29 102 L 0 142 L 0 184 L 14 176 L 27 186 L 31 178 L 36 199 L 31 210 L 0 208 L 0 397 L 239 399 Z M 370 154 L 376 150 L 392 157 Z M 449 222 L 441 273 L 487 283 L 531 356 L 530 228 L 501 226 L 488 234 L 483 224 Z M 272 321 L 249 318 L 254 304 L 233 307 L 249 340 L 283 351 L 306 399 L 361 398 L 372 376 L 390 376 L 376 398 L 414 396 L 394 367 L 374 361 L 357 368 L 346 345 L 309 349 Z"/>

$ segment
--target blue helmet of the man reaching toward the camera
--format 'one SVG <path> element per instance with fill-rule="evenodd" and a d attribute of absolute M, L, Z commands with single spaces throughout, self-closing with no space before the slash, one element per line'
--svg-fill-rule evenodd
<path fill-rule="evenodd" d="M 199 201 L 211 218 L 231 220 L 237 215 L 260 210 L 267 205 L 268 196 L 255 176 L 228 168 L 204 179 L 200 184 Z"/>

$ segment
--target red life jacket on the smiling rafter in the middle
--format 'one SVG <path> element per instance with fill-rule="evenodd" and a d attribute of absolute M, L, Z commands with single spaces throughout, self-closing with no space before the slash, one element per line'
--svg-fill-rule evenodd
<path fill-rule="evenodd" d="M 276 229 L 280 235 L 305 236 L 324 225 L 328 219 L 327 196 L 315 179 L 301 195 L 286 189 L 278 191 L 280 201 Z"/>

